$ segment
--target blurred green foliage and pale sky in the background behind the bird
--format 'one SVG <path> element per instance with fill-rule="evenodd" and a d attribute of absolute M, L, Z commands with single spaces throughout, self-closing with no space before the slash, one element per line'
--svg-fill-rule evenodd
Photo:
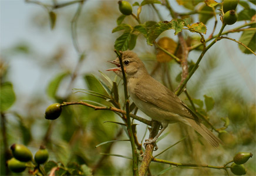
<path fill-rule="evenodd" d="M 57 1 L 43 2 L 52 4 Z M 201 1 L 196 4 L 193 4 L 196 1 L 189 2 L 191 3 L 170 1 L 171 6 L 177 8 L 180 13 L 186 13 L 188 9 L 210 10 Z M 255 3 L 245 2 L 249 8 L 255 9 Z M 15 2 L 1 2 L 1 9 L 8 3 Z M 106 79 L 98 70 L 114 80 L 114 73 L 106 73 L 105 70 L 111 67 L 106 61 L 116 57 L 113 52 L 114 40 L 120 35 L 119 32 L 112 33 L 116 19 L 120 16 L 117 1 L 86 1 L 77 21 L 77 41 L 74 41 L 74 36 L 72 38 L 70 22 L 78 4 L 56 9 L 54 11 L 56 23 L 51 31 L 48 11 L 36 4 L 25 1 L 19 3 L 26 3 L 26 6 L 35 9 L 28 15 L 27 31 L 27 33 L 32 32 L 34 36 L 33 40 L 17 38 L 8 47 L 1 45 L 1 175 L 14 175 L 5 167 L 6 159 L 11 157 L 9 146 L 13 143 L 26 145 L 33 154 L 41 144 L 44 144 L 50 153 L 49 160 L 60 161 L 64 165 L 70 161 L 86 164 L 95 175 L 130 175 L 131 160 L 102 154 L 131 156 L 129 141 L 108 143 L 95 148 L 104 141 L 127 139 L 122 126 L 104 123 L 105 121 L 122 122 L 112 111 L 95 111 L 89 107 L 75 105 L 63 107 L 58 120 L 49 121 L 44 118 L 46 107 L 55 102 L 90 100 L 110 106 L 109 102 L 99 97 L 74 93 L 72 89 L 89 89 L 104 93 L 99 79 L 103 82 L 106 82 Z M 163 18 L 170 21 L 166 8 L 161 5 L 157 8 Z M 238 8 L 244 7 L 240 5 Z M 134 6 L 133 9 L 137 7 Z M 8 15 L 1 15 L 1 18 L 10 18 L 9 20 L 12 21 Z M 194 22 L 206 23 L 208 31 L 213 29 L 213 16 L 191 15 L 191 17 Z M 149 5 L 143 6 L 140 20 L 159 21 L 153 7 Z M 132 26 L 136 25 L 136 21 L 130 17 L 124 19 L 124 22 Z M 4 23 L 1 22 L 2 25 Z M 217 25 L 217 28 L 219 27 Z M 2 35 L 4 33 L 1 32 Z M 210 32 L 207 32 L 207 35 L 210 35 Z M 239 38 L 240 35 L 236 33 L 230 36 Z M 162 33 L 159 39 L 167 36 L 177 41 L 173 31 Z M 42 41 L 39 42 L 39 39 Z M 78 52 L 73 47 L 74 42 L 77 42 L 78 47 L 85 52 Z M 211 148 L 191 128 L 181 124 L 171 124 L 169 130 L 165 131 L 170 132 L 159 142 L 159 151 L 155 153 L 159 153 L 183 137 L 186 139 L 159 158 L 180 163 L 223 165 L 239 151 L 255 154 L 255 56 L 241 53 L 237 43 L 230 41 L 228 43 L 230 44 L 220 41 L 217 46 L 210 49 L 187 84 L 187 91 L 198 110 L 206 111 L 206 105 L 203 104 L 204 95 L 213 98 L 214 107 L 207 112 L 208 118 L 216 128 L 227 131 L 219 136 L 226 145 L 217 149 Z M 137 39 L 134 51 L 157 80 L 171 90 L 176 89 L 180 82 L 180 66 L 173 60 L 161 62 L 157 59 L 159 51 L 153 46 L 148 46 L 143 36 Z M 199 54 L 197 50 L 190 53 L 188 57 L 190 65 L 196 62 L 195 59 Z M 119 78 L 117 78 L 118 82 Z M 28 91 L 26 87 L 29 87 Z M 122 81 L 119 83 L 119 96 L 123 100 Z M 190 104 L 184 93 L 180 97 Z M 8 99 L 7 103 L 6 99 Z M 138 115 L 148 118 L 140 111 Z M 147 126 L 139 121 L 134 123 L 138 124 L 137 137 L 142 140 Z M 254 157 L 246 164 L 247 175 L 255 175 L 255 165 Z M 159 163 L 151 163 L 150 166 L 154 175 L 168 167 L 169 165 Z M 23 172 L 23 175 L 26 174 L 27 172 Z M 173 168 L 165 174 L 223 175 L 224 171 L 209 168 Z"/>

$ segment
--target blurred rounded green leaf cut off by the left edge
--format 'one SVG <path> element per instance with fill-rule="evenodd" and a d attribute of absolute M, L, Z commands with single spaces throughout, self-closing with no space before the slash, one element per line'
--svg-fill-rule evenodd
<path fill-rule="evenodd" d="M 6 111 L 14 104 L 16 99 L 12 83 L 1 84 L 0 90 L 0 110 Z"/>

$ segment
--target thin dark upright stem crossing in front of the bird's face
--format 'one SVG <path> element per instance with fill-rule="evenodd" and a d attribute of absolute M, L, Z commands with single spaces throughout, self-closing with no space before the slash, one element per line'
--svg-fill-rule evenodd
<path fill-rule="evenodd" d="M 117 55 L 118 55 L 118 53 L 117 53 Z M 137 149 L 135 146 L 133 130 L 132 130 L 132 123 L 131 123 L 131 119 L 130 119 L 130 105 L 129 105 L 129 97 L 128 97 L 128 91 L 127 91 L 127 79 L 126 79 L 126 73 L 124 72 L 124 67 L 123 67 L 122 53 L 121 53 L 121 55 L 118 55 L 118 57 L 119 57 L 119 63 L 120 63 L 120 66 L 122 69 L 122 74 L 123 74 L 123 89 L 124 89 L 124 98 L 125 98 L 125 106 L 126 106 L 127 131 L 129 133 L 130 143 L 132 145 L 132 155 L 133 155 L 133 175 L 139 175 L 139 170 L 138 170 L 139 158 L 137 156 Z"/>

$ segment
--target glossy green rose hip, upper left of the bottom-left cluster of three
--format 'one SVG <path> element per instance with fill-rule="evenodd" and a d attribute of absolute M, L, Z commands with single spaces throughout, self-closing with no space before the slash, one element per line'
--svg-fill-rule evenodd
<path fill-rule="evenodd" d="M 12 144 L 11 150 L 12 155 L 19 161 L 28 162 L 32 160 L 32 153 L 25 145 Z"/>

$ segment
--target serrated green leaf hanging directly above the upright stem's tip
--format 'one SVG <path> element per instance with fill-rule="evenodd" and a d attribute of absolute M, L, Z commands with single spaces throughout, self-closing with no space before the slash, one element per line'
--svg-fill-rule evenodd
<path fill-rule="evenodd" d="M 114 42 L 114 48 L 117 51 L 124 51 L 129 48 L 129 42 L 131 39 L 131 33 L 130 32 L 124 32 L 119 38 L 116 39 Z"/>

